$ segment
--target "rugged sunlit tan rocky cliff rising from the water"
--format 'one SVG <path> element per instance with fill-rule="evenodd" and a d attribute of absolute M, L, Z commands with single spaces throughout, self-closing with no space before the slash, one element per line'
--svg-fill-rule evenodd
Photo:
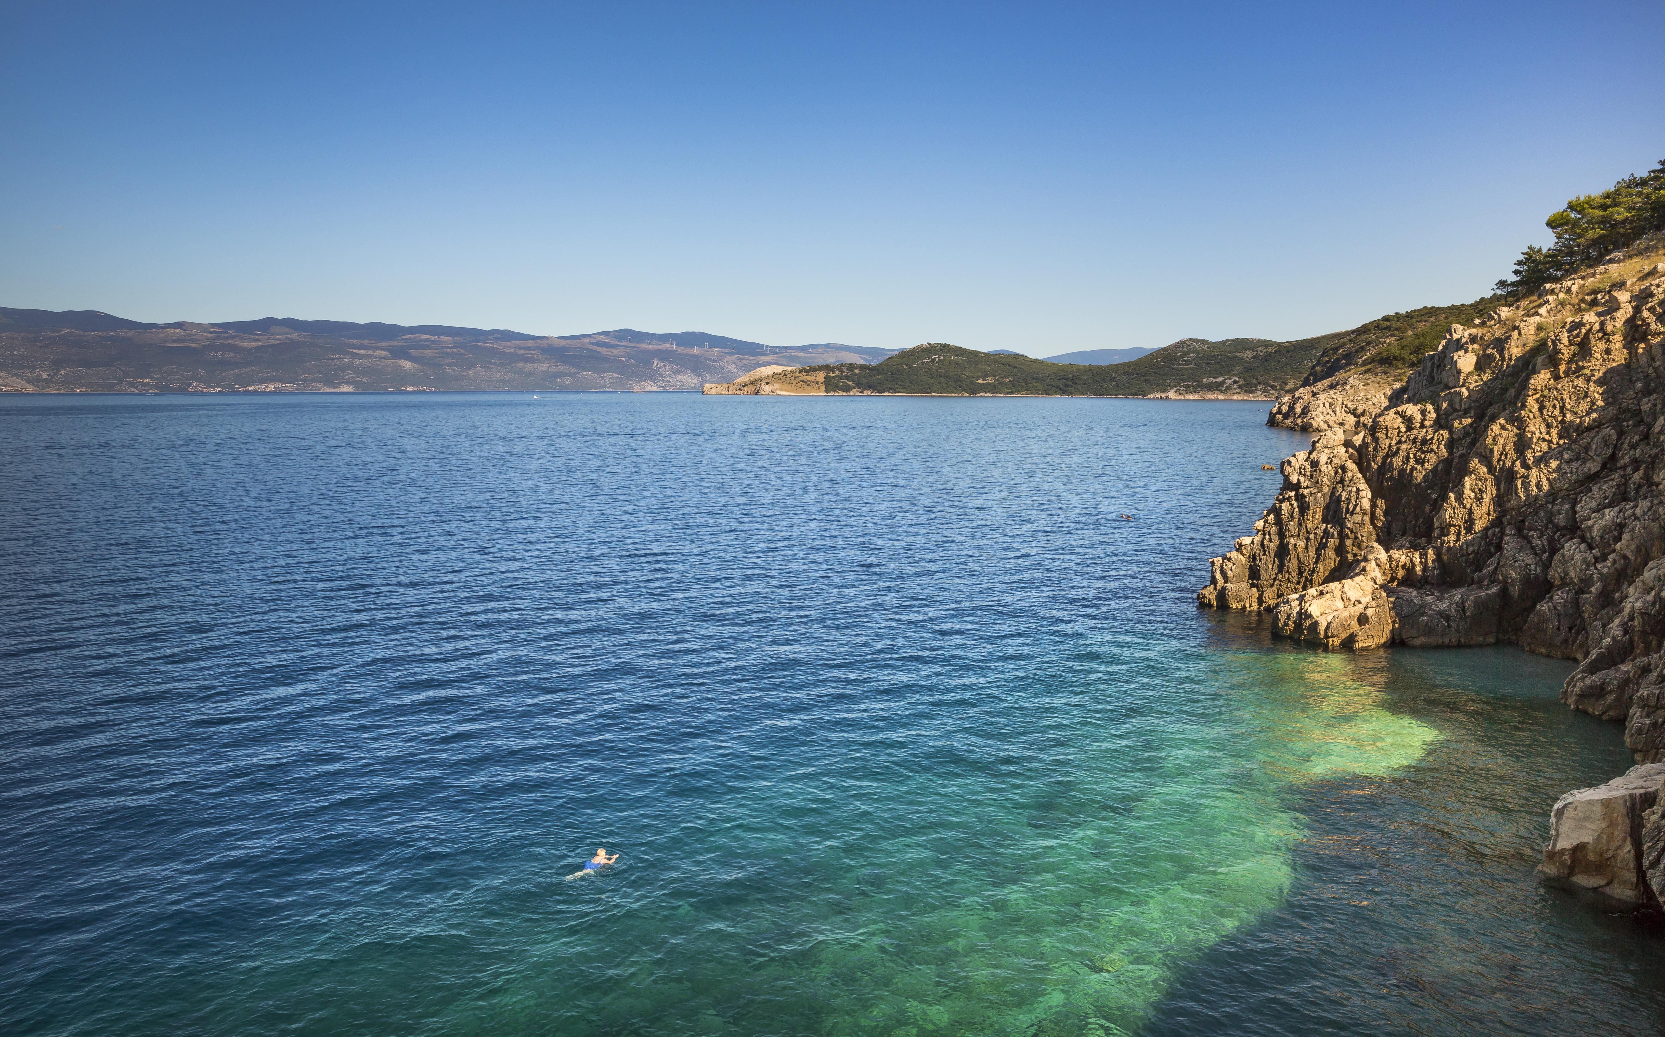
<path fill-rule="evenodd" d="M 1345 376 L 1280 401 L 1322 434 L 1284 461 L 1199 601 L 1270 611 L 1325 648 L 1502 641 L 1578 659 L 1563 699 L 1623 721 L 1638 762 L 1665 761 L 1660 260 L 1647 238 L 1452 325 L 1380 403 Z"/>

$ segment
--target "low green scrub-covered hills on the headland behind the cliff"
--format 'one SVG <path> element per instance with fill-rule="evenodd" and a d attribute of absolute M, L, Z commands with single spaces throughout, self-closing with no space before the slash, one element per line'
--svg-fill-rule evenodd
<path fill-rule="evenodd" d="M 1119 365 L 1052 363 L 926 343 L 876 365 L 824 365 L 808 371 L 826 375 L 828 393 L 1270 398 L 1299 386 L 1330 338 L 1294 343 L 1184 338 Z"/>

